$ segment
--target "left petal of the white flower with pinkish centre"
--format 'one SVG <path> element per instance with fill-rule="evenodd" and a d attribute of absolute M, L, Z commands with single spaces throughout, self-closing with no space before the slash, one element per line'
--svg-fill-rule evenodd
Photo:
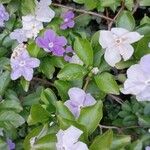
<path fill-rule="evenodd" d="M 101 30 L 100 31 L 100 37 L 99 37 L 99 43 L 102 46 L 102 48 L 110 47 L 112 44 L 114 44 L 114 36 L 111 31 Z"/>

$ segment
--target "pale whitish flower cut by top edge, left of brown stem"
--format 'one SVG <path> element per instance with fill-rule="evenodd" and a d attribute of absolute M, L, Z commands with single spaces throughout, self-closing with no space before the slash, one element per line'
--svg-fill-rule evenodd
<path fill-rule="evenodd" d="M 38 21 L 50 22 L 54 18 L 55 12 L 49 7 L 51 3 L 51 0 L 40 0 L 40 2 L 37 2 L 35 16 Z"/>

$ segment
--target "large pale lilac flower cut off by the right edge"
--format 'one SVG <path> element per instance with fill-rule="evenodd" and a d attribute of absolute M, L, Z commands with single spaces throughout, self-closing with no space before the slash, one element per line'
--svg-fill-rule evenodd
<path fill-rule="evenodd" d="M 124 94 L 136 95 L 138 101 L 150 101 L 150 54 L 141 58 L 139 64 L 132 65 L 127 70 L 127 80 L 124 83 Z"/>

